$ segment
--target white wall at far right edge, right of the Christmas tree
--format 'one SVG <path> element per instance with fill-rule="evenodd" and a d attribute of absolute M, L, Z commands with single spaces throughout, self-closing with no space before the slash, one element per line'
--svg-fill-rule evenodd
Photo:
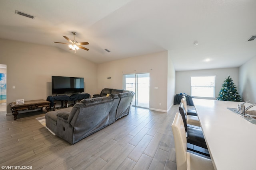
<path fill-rule="evenodd" d="M 239 68 L 239 91 L 242 101 L 256 103 L 256 57 Z"/>

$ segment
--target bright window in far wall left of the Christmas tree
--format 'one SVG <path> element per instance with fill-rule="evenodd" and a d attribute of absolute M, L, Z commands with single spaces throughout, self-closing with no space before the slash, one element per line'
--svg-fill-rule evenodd
<path fill-rule="evenodd" d="M 215 76 L 191 77 L 191 96 L 215 98 Z"/>

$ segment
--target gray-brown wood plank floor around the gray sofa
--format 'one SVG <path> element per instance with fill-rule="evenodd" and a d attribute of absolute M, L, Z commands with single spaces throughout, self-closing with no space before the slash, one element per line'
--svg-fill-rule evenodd
<path fill-rule="evenodd" d="M 168 113 L 132 107 L 129 115 L 70 145 L 52 135 L 36 117 L 43 111 L 0 114 L 0 166 L 33 170 L 176 170 L 171 124 L 178 105 Z"/>

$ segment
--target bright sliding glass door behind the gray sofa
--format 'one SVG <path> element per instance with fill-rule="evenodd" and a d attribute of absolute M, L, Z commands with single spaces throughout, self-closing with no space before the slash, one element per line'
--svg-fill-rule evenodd
<path fill-rule="evenodd" d="M 125 74 L 124 89 L 135 92 L 133 106 L 149 108 L 149 73 Z"/>

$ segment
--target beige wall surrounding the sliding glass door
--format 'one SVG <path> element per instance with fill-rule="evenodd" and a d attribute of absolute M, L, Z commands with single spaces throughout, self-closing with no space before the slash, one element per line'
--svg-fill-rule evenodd
<path fill-rule="evenodd" d="M 173 81 L 174 68 L 168 52 L 153 53 L 138 57 L 132 57 L 122 60 L 111 61 L 98 65 L 98 93 L 103 88 L 123 88 L 123 75 L 134 73 L 150 73 L 150 109 L 167 111 L 173 103 L 167 100 L 167 96 L 174 96 L 174 90 L 168 91 L 168 81 Z M 171 65 L 168 66 L 168 63 Z M 168 68 L 170 67 L 170 69 Z M 170 70 L 170 74 L 168 74 Z M 168 78 L 168 75 L 170 78 Z M 108 79 L 111 77 L 111 79 Z M 155 89 L 154 87 L 158 87 Z M 172 87 L 175 88 L 175 87 Z M 168 94 L 168 92 L 170 94 Z M 170 103 L 171 102 L 171 103 Z M 161 106 L 159 105 L 161 103 Z"/>

